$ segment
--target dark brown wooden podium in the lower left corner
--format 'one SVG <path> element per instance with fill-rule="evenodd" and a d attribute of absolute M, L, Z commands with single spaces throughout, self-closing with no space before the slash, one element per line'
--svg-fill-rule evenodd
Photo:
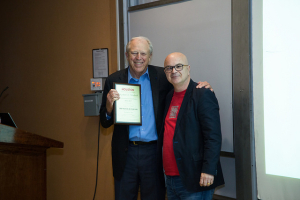
<path fill-rule="evenodd" d="M 0 199 L 46 200 L 46 150 L 63 146 L 0 124 Z"/>

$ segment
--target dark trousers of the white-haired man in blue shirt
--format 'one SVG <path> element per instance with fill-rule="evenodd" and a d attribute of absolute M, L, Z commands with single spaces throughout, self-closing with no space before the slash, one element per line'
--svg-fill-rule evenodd
<path fill-rule="evenodd" d="M 129 144 L 121 180 L 115 179 L 116 200 L 136 200 L 141 189 L 142 200 L 164 200 L 165 186 L 157 173 L 157 144 Z"/>

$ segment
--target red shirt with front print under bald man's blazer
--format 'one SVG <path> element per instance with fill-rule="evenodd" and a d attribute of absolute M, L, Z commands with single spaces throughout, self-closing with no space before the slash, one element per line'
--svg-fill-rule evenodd
<path fill-rule="evenodd" d="M 177 122 L 177 116 L 186 90 L 175 92 L 165 119 L 163 142 L 163 166 L 168 176 L 179 176 L 173 149 L 173 137 Z"/>

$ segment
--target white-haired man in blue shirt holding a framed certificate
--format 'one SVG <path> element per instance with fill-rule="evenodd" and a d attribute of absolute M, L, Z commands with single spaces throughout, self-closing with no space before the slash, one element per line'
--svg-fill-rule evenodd
<path fill-rule="evenodd" d="M 143 200 L 164 199 L 157 133 L 163 123 L 165 97 L 172 85 L 167 81 L 163 68 L 149 65 L 152 51 L 149 39 L 132 38 L 126 46 L 129 67 L 113 73 L 105 82 L 100 109 L 104 128 L 113 125 L 113 104 L 120 98 L 113 89 L 113 82 L 141 84 L 142 126 L 114 126 L 111 145 L 115 199 L 137 199 L 139 186 Z M 200 84 L 205 85 L 210 87 L 207 82 Z"/>

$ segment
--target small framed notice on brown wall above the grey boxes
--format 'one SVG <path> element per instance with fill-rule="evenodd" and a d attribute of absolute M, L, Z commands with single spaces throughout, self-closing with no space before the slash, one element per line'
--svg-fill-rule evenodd
<path fill-rule="evenodd" d="M 93 78 L 107 78 L 109 74 L 108 48 L 93 49 Z"/>

